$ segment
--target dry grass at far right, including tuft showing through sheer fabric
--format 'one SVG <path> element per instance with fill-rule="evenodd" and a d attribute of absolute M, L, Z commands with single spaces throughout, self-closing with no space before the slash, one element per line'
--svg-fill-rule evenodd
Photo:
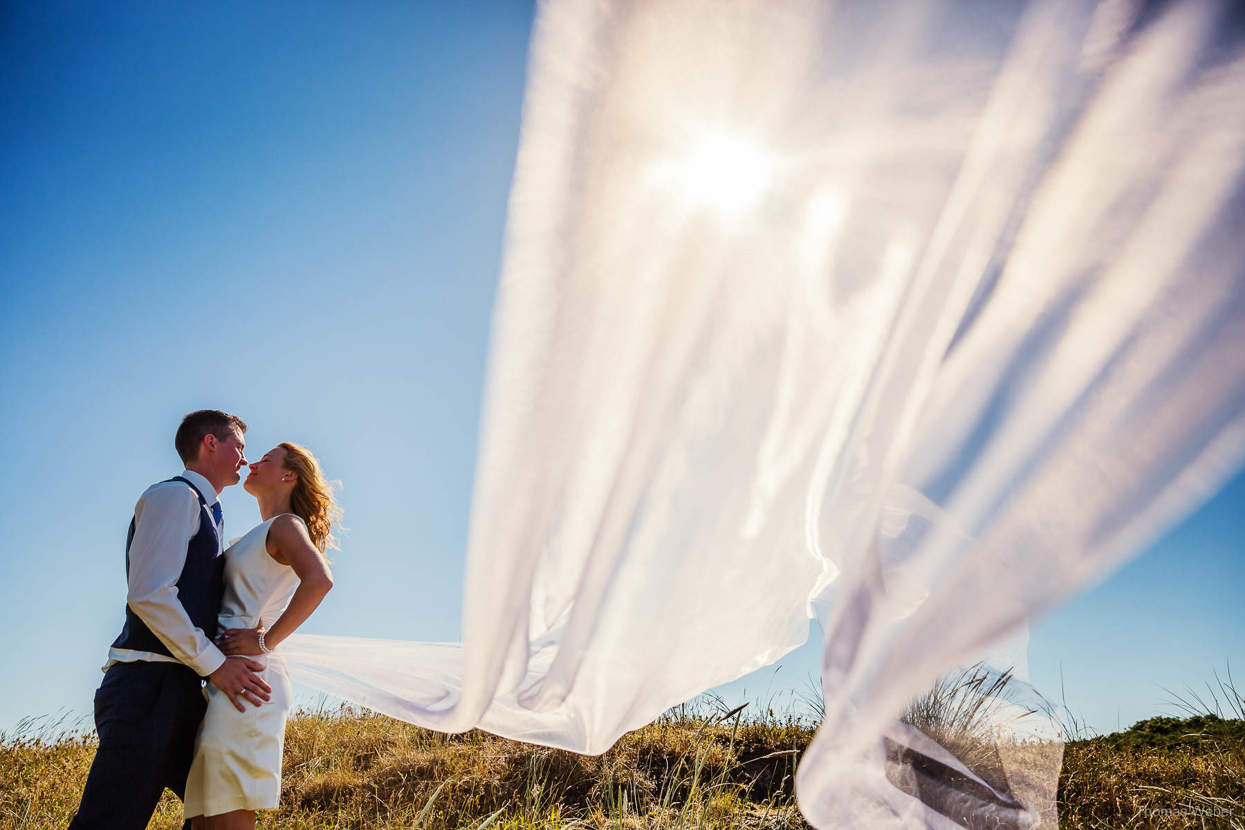
<path fill-rule="evenodd" d="M 1057 790 L 1064 830 L 1245 830 L 1245 701 L 1230 668 L 1226 679 L 1216 674 L 1216 681 L 1218 689 L 1173 696 L 1184 718 L 1152 718 L 1096 735 L 1067 707 L 1061 716 L 1032 696 L 1013 696 L 1011 672 L 979 664 L 939 678 L 903 717 L 984 780 L 1012 790 L 1026 775 L 1040 785 L 1058 744 L 1010 743 L 992 733 L 992 724 L 1000 716 L 1058 723 L 1069 738 Z"/>

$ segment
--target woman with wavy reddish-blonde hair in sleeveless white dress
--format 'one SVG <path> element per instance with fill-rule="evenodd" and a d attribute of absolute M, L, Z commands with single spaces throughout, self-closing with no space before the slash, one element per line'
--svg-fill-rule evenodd
<path fill-rule="evenodd" d="M 278 806 L 290 681 L 276 646 L 311 616 L 332 587 L 324 557 L 341 510 L 304 447 L 281 443 L 250 465 L 243 488 L 264 521 L 225 551 L 217 642 L 225 655 L 254 656 L 271 701 L 238 706 L 215 687 L 195 739 L 184 814 L 194 830 L 253 830 L 255 811 Z M 264 620 L 274 620 L 264 628 Z"/>

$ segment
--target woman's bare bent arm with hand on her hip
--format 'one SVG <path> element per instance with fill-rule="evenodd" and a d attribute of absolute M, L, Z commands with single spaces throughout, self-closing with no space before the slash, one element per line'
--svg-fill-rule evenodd
<path fill-rule="evenodd" d="M 264 633 L 264 645 L 275 648 L 294 633 L 332 587 L 332 574 L 324 555 L 311 544 L 306 526 L 291 515 L 278 516 L 268 529 L 268 553 L 299 576 L 299 587 L 280 618 Z M 260 622 L 263 625 L 263 622 Z M 259 655 L 259 627 L 229 628 L 220 636 L 225 655 Z"/>

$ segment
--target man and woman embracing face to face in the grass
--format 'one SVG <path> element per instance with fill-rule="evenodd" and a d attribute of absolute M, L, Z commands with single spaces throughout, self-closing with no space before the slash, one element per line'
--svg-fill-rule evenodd
<path fill-rule="evenodd" d="M 332 587 L 324 554 L 341 510 L 315 457 L 280 443 L 243 483 L 264 520 L 227 548 L 219 494 L 247 467 L 245 433 L 217 409 L 186 416 L 173 442 L 186 469 L 134 505 L 126 623 L 70 830 L 142 830 L 166 788 L 183 830 L 253 830 L 280 801 L 290 681 L 278 646 Z"/>

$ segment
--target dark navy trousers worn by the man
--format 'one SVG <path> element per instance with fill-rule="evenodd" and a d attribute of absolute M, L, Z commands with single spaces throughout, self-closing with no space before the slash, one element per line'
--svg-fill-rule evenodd
<path fill-rule="evenodd" d="M 208 702 L 183 663 L 113 663 L 95 693 L 100 748 L 70 830 L 143 830 L 164 789 L 186 796 Z"/>

